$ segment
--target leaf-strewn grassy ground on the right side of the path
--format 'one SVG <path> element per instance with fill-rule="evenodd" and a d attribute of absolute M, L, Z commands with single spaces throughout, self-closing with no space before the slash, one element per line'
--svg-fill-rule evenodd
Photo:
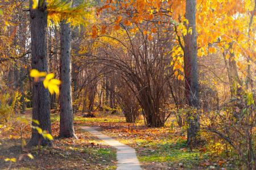
<path fill-rule="evenodd" d="M 236 169 L 233 160 L 216 155 L 216 143 L 188 148 L 185 129 L 171 118 L 163 128 L 148 128 L 143 120 L 125 122 L 121 115 L 99 114 L 94 118 L 75 117 L 77 126 L 93 126 L 101 133 L 129 145 L 137 151 L 143 169 Z"/>

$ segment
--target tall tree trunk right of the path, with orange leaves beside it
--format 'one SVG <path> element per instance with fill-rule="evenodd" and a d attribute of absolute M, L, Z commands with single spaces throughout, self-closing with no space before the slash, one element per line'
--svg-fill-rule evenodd
<path fill-rule="evenodd" d="M 199 85 L 197 78 L 197 43 L 196 43 L 196 0 L 186 1 L 186 19 L 192 27 L 192 34 L 184 37 L 184 74 L 185 74 L 185 99 L 189 107 L 199 107 Z M 199 115 L 188 113 L 187 144 L 197 143 L 196 136 L 199 131 Z"/>

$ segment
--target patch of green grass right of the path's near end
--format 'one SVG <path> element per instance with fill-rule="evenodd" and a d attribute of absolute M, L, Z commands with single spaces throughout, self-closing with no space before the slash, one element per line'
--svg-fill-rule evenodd
<path fill-rule="evenodd" d="M 192 168 L 199 165 L 207 155 L 200 155 L 200 152 L 189 151 L 184 140 L 174 142 L 172 140 L 143 141 L 137 140 L 139 148 L 138 159 L 141 162 L 167 162 L 169 165 L 182 163 L 184 168 Z"/>

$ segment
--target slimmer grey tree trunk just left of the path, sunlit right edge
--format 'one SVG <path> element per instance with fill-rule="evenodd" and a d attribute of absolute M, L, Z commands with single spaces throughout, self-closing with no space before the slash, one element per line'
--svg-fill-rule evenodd
<path fill-rule="evenodd" d="M 61 22 L 60 58 L 60 137 L 75 137 L 73 127 L 72 87 L 71 87 L 71 28 Z"/>

